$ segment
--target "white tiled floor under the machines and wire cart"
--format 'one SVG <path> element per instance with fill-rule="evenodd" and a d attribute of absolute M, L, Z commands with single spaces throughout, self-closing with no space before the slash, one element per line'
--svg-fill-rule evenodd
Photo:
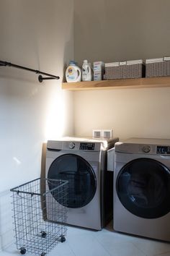
<path fill-rule="evenodd" d="M 20 255 L 14 246 L 0 256 Z M 26 255 L 30 255 L 27 253 Z M 26 256 L 25 255 L 25 256 Z M 170 256 L 170 243 L 157 242 L 112 230 L 112 223 L 102 231 L 68 227 L 66 242 L 59 243 L 49 256 Z"/>

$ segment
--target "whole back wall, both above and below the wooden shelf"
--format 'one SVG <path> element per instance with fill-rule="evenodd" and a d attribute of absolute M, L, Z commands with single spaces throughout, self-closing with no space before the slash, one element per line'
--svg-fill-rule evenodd
<path fill-rule="evenodd" d="M 170 56 L 169 9 L 169 0 L 75 0 L 76 61 Z M 75 133 L 169 138 L 169 101 L 170 88 L 75 92 Z"/>

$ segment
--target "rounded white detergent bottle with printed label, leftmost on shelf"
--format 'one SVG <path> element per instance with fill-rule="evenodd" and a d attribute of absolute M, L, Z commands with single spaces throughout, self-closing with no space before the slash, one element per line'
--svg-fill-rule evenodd
<path fill-rule="evenodd" d="M 81 81 L 81 69 L 77 66 L 75 61 L 70 61 L 66 69 L 66 81 L 67 82 L 80 82 Z"/>

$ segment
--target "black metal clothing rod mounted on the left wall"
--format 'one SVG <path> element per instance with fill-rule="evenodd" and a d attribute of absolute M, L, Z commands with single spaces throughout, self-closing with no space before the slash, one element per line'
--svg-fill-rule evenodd
<path fill-rule="evenodd" d="M 48 74 L 48 73 L 45 73 L 45 72 L 41 72 L 40 70 L 36 70 L 36 69 L 30 69 L 28 67 L 23 67 L 23 66 L 19 66 L 19 65 L 16 65 L 16 64 L 12 64 L 11 62 L 6 62 L 6 61 L 0 61 L 0 66 L 9 66 L 9 67 L 16 67 L 17 69 L 24 69 L 24 70 L 28 70 L 30 72 L 35 72 L 36 74 L 44 74 L 47 77 L 42 77 L 42 80 L 47 80 L 47 79 L 60 79 L 60 77 L 58 76 L 55 76 L 53 74 Z M 42 82 L 42 80 L 39 80 L 40 82 Z"/>

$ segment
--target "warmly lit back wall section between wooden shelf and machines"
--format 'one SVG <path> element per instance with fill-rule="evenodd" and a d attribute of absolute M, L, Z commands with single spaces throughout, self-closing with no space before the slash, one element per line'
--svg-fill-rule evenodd
<path fill-rule="evenodd" d="M 76 135 L 92 129 L 113 129 L 120 140 L 128 137 L 169 138 L 170 88 L 76 92 Z"/>

